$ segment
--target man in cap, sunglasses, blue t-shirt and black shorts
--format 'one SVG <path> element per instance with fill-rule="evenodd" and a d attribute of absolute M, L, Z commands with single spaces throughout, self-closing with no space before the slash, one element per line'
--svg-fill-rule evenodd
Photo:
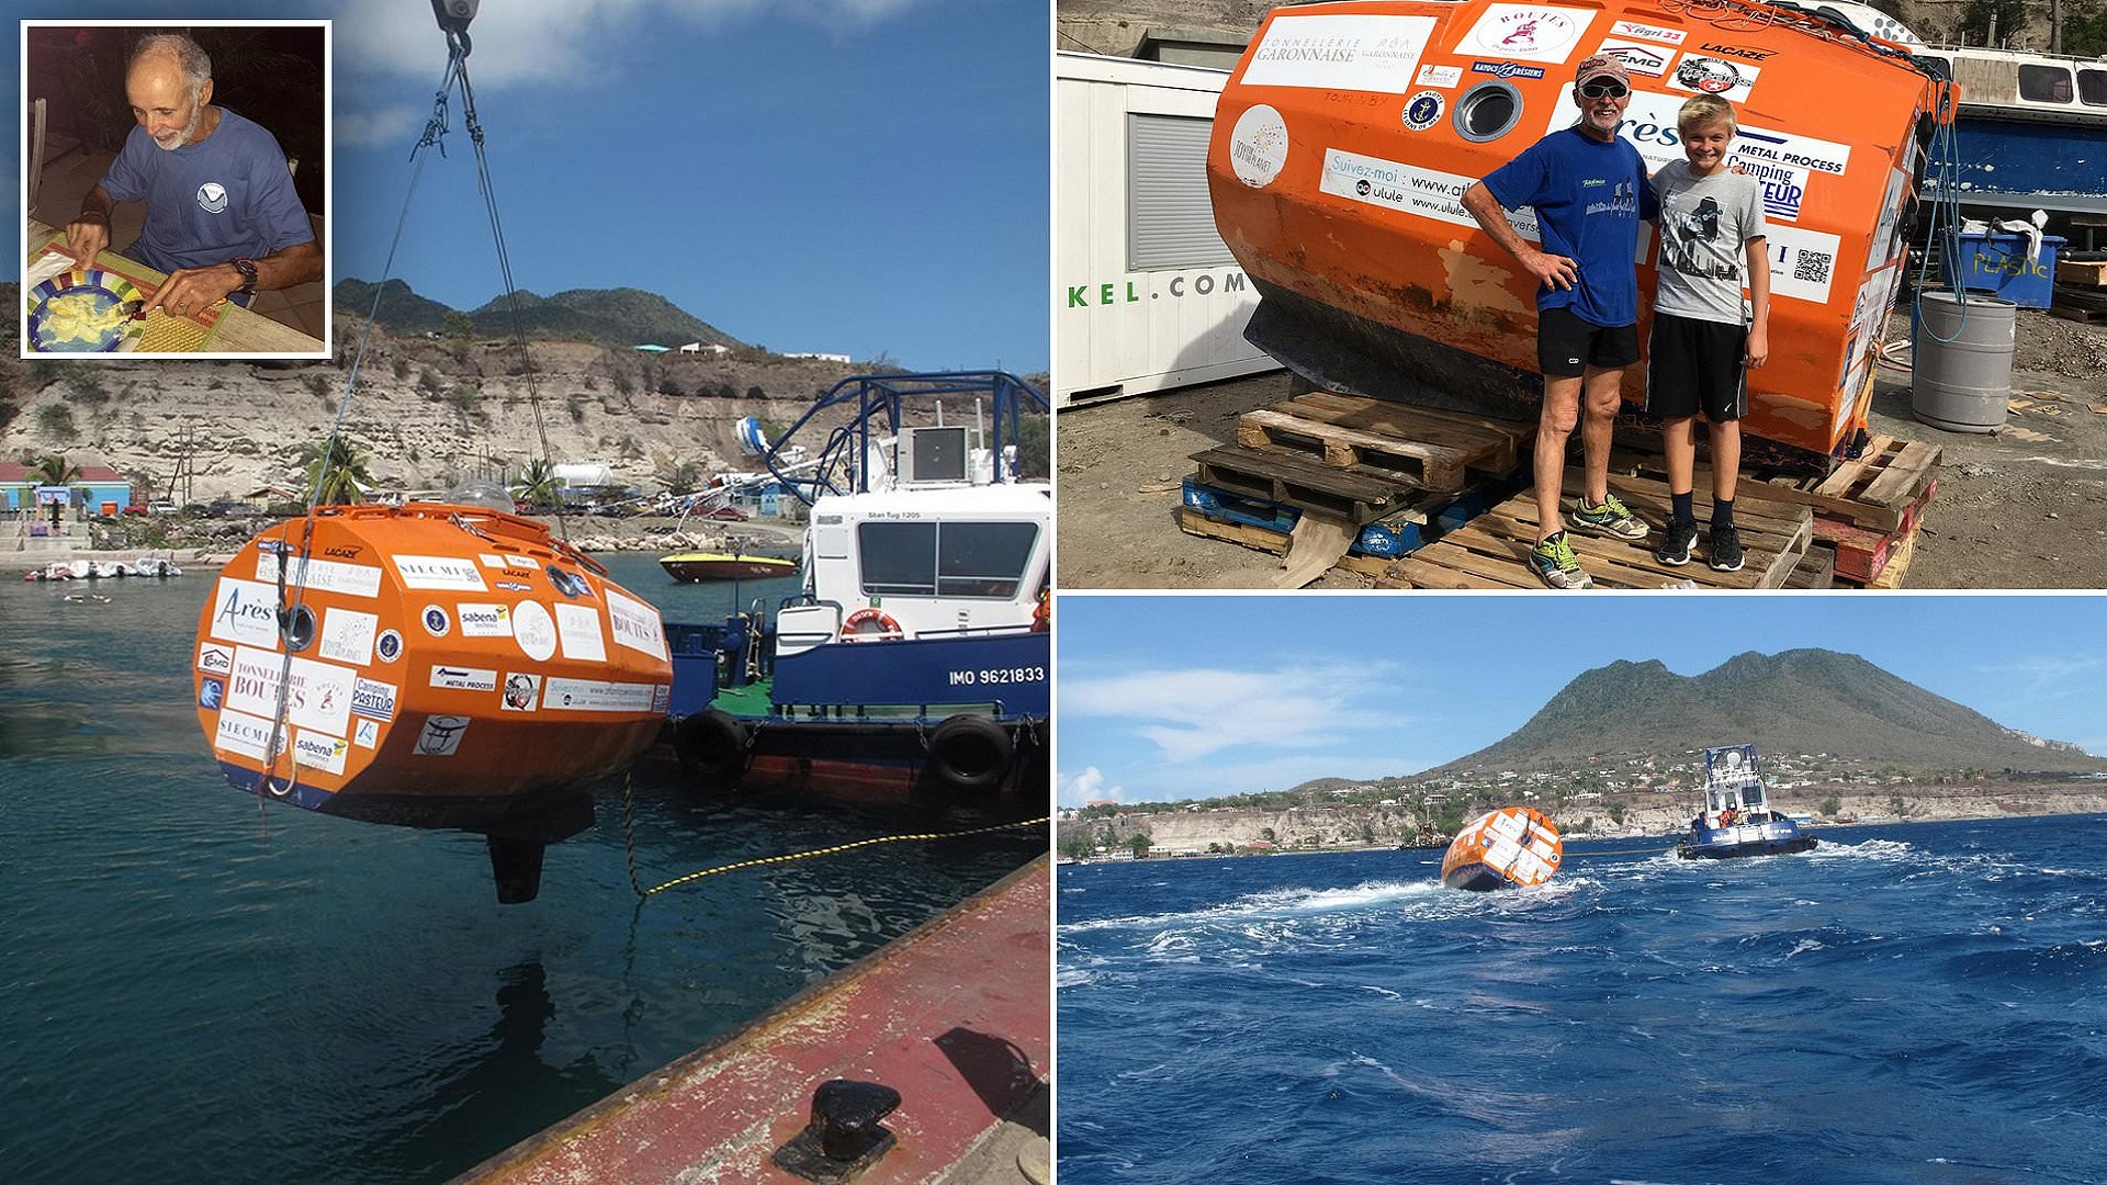
<path fill-rule="evenodd" d="M 1593 580 L 1566 538 L 1568 521 L 1599 536 L 1643 540 L 1646 523 L 1610 493 L 1610 430 L 1624 367 L 1639 361 L 1639 221 L 1658 217 L 1646 160 L 1616 124 L 1631 105 L 1624 63 L 1595 55 L 1574 72 L 1580 122 L 1536 141 L 1462 194 L 1485 234 L 1538 280 L 1536 365 L 1544 411 L 1536 428 L 1536 546 L 1530 569 L 1553 588 Z M 1536 209 L 1540 245 L 1507 221 Z M 1559 514 L 1566 441 L 1580 428 L 1584 485 L 1570 517 Z"/>

